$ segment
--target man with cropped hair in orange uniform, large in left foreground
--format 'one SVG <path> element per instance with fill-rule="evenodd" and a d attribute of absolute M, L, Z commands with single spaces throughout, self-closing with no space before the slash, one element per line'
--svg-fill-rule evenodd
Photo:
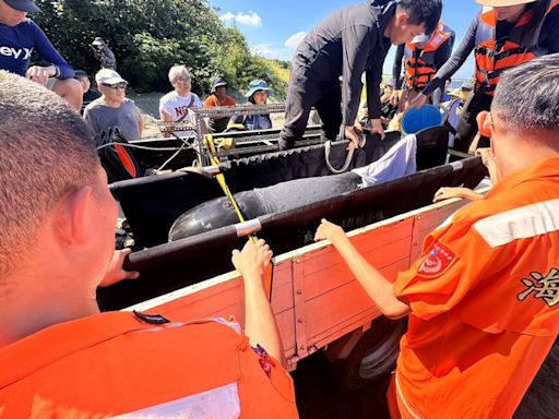
<path fill-rule="evenodd" d="M 0 72 L 0 416 L 296 418 L 262 284 L 272 252 L 235 251 L 246 331 L 223 319 L 99 313 L 117 204 L 85 122 L 45 87 Z M 265 349 L 264 349 L 265 348 Z"/>

